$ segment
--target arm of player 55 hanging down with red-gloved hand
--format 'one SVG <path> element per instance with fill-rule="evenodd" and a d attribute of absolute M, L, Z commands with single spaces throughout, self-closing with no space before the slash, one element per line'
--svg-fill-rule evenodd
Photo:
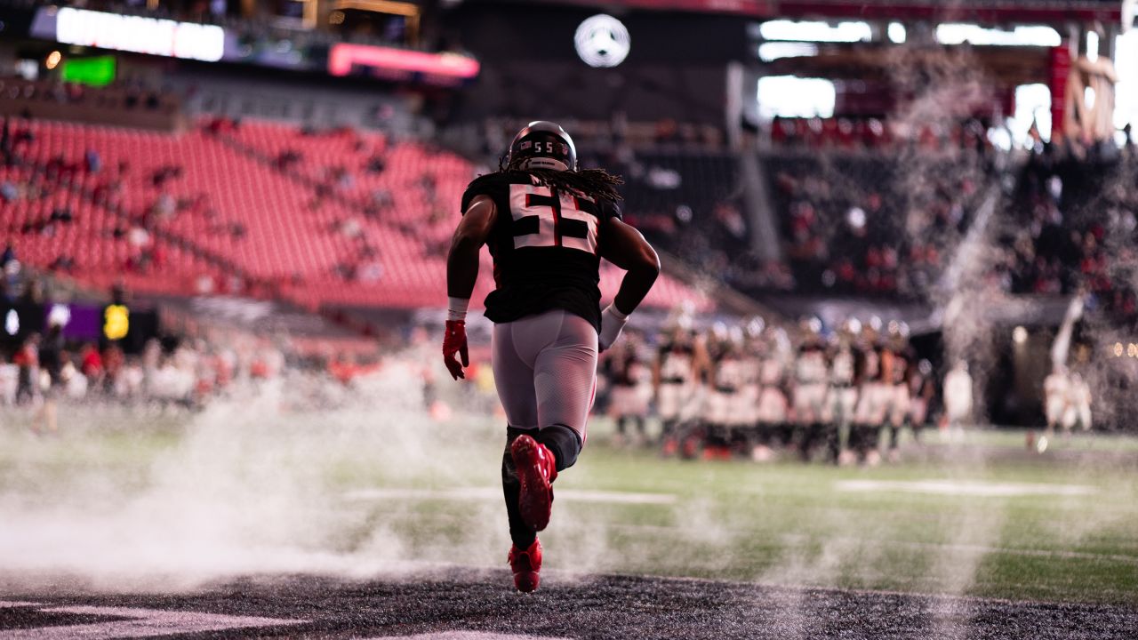
<path fill-rule="evenodd" d="M 470 366 L 467 352 L 467 307 L 478 280 L 478 254 L 490 237 L 497 212 L 488 196 L 476 196 L 462 214 L 451 237 L 446 255 L 447 318 L 443 338 L 443 363 L 454 379 L 464 378 L 463 367 Z M 459 362 L 459 358 L 462 362 Z"/>

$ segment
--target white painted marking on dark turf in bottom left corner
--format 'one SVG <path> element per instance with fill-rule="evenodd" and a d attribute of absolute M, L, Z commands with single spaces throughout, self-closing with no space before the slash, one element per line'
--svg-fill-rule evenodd
<path fill-rule="evenodd" d="M 0 640 L 50 639 L 50 638 L 142 638 L 146 635 L 174 635 L 203 631 L 225 631 L 255 626 L 280 626 L 302 624 L 304 620 L 279 620 L 254 616 L 228 616 L 197 612 L 167 612 L 132 607 L 49 607 L 35 602 L 0 601 L 0 608 L 34 606 L 50 614 L 75 614 L 89 616 L 115 616 L 131 620 L 96 622 L 90 624 L 60 624 L 38 629 L 13 629 L 0 631 Z"/>

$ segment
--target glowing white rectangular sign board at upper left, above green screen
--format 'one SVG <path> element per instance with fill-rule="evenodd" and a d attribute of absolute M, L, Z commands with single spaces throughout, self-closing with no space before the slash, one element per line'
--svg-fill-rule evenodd
<path fill-rule="evenodd" d="M 56 40 L 151 56 L 215 63 L 225 51 L 225 31 L 212 24 L 180 23 L 63 7 Z"/>

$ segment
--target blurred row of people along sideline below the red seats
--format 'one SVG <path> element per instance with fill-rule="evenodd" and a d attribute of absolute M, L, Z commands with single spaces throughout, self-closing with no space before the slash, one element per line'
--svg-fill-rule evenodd
<path fill-rule="evenodd" d="M 279 380 L 288 389 L 282 408 L 321 409 L 358 397 L 363 380 L 397 366 L 417 372 L 424 404 L 434 410 L 435 361 L 421 351 L 414 344 L 343 351 L 328 342 L 302 352 L 282 340 L 224 330 L 164 335 L 133 351 L 118 342 L 67 338 L 63 325 L 51 323 L 43 335 L 0 351 L 0 408 L 30 411 L 32 428 L 51 433 L 60 408 L 196 411 Z"/>

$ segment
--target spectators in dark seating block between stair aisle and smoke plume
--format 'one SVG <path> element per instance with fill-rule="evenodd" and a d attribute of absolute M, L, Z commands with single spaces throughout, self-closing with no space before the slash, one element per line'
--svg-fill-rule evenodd
<path fill-rule="evenodd" d="M 967 149 L 798 148 L 767 166 L 799 290 L 905 300 L 931 289 L 991 180 Z"/>

